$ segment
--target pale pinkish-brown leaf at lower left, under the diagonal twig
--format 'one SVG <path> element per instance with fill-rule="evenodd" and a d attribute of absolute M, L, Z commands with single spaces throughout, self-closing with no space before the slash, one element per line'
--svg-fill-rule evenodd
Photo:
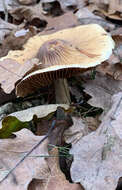
<path fill-rule="evenodd" d="M 0 140 L 0 180 L 42 138 L 33 135 L 27 129 L 17 132 L 16 135 L 15 139 Z M 44 156 L 48 156 L 47 143 L 46 140 L 20 164 L 14 170 L 13 176 L 10 175 L 0 184 L 0 190 L 6 189 L 6 187 L 8 190 L 27 190 L 27 186 L 33 178 L 46 178 L 49 172 L 44 158 Z M 15 179 L 17 183 L 15 183 Z"/>

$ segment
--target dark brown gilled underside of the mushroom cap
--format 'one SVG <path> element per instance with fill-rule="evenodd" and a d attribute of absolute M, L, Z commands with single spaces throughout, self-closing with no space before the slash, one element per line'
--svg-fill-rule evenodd
<path fill-rule="evenodd" d="M 50 85 L 58 78 L 69 78 L 86 70 L 88 69 L 65 68 L 54 70 L 52 68 L 49 72 L 47 72 L 47 69 L 35 71 L 16 83 L 16 95 L 25 97 L 36 92 L 41 87 Z"/>

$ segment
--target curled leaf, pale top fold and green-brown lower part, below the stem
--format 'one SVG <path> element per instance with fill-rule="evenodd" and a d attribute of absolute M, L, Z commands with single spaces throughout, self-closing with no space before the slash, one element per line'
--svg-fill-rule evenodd
<path fill-rule="evenodd" d="M 69 108 L 69 106 L 65 104 L 52 104 L 52 105 L 50 104 L 50 105 L 36 106 L 26 110 L 9 114 L 8 116 L 4 117 L 2 121 L 0 121 L 1 125 L 0 138 L 13 137 L 14 132 L 17 132 L 23 128 L 28 128 L 32 130 L 33 122 L 36 125 L 39 125 L 38 123 L 41 123 L 40 126 L 38 127 L 39 133 L 36 132 L 36 134 L 38 135 L 46 134 L 52 123 L 52 120 L 49 122 L 48 117 L 47 118 L 45 117 L 48 116 L 49 114 L 54 113 L 57 110 L 57 107 L 59 106 L 65 108 L 66 110 Z M 49 118 L 51 119 L 52 117 L 49 116 Z"/>

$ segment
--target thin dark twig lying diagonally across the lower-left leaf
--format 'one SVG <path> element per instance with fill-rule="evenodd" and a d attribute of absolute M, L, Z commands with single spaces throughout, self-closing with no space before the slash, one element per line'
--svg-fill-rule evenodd
<path fill-rule="evenodd" d="M 45 139 L 48 138 L 48 136 L 51 134 L 52 130 L 55 127 L 56 120 L 53 120 L 52 125 L 48 131 L 48 133 L 45 135 L 43 139 L 41 139 L 23 158 L 9 171 L 9 173 L 0 181 L 2 183 L 5 179 L 8 178 L 10 174 L 35 150 Z"/>

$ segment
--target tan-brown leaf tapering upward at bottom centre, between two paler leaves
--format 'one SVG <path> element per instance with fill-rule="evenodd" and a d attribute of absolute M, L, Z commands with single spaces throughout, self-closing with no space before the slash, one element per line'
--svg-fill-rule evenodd
<path fill-rule="evenodd" d="M 46 159 L 50 173 L 48 178 L 40 181 L 39 190 L 83 190 L 80 184 L 72 184 L 66 180 L 65 175 L 60 170 L 58 150 L 53 149 L 50 151 L 50 156 L 50 158 Z M 28 190 L 32 189 L 31 186 Z M 33 187 L 33 190 L 35 189 L 36 187 Z"/>

